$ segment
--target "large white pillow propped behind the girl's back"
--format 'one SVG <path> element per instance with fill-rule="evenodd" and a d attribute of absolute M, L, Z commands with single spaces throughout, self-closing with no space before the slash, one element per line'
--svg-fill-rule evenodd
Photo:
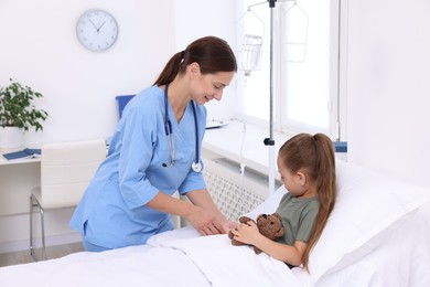
<path fill-rule="evenodd" d="M 310 254 L 312 280 L 362 258 L 389 240 L 384 230 L 430 201 L 430 190 L 343 161 L 336 162 L 338 195 L 325 228 Z M 278 189 L 248 213 L 273 213 L 286 189 Z M 387 234 L 387 236 L 385 236 Z M 378 236 L 377 236 L 378 235 Z"/>

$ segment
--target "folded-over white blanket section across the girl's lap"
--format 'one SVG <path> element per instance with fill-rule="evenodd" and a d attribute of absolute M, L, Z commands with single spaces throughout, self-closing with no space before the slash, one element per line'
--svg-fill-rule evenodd
<path fill-rule="evenodd" d="M 212 286 L 301 286 L 282 262 L 249 246 L 233 246 L 227 235 L 194 238 L 153 237 L 153 246 L 184 253 L 204 274 Z"/>

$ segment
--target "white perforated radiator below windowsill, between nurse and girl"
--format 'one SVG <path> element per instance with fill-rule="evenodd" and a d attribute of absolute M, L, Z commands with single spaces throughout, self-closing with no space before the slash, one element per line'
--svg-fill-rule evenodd
<path fill-rule="evenodd" d="M 207 190 L 227 219 L 237 221 L 268 196 L 267 176 L 250 169 L 241 176 L 240 164 L 227 158 L 203 158 L 203 162 Z"/>

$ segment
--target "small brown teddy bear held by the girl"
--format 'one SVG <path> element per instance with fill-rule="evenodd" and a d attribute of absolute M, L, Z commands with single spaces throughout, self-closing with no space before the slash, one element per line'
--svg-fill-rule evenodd
<path fill-rule="evenodd" d="M 249 219 L 248 216 L 241 216 L 239 219 L 240 223 L 247 223 L 248 221 L 254 221 L 254 220 Z M 278 213 L 258 215 L 257 226 L 259 232 L 266 237 L 268 237 L 269 240 L 275 241 L 276 238 L 283 236 L 282 221 L 281 221 L 281 216 Z M 245 245 L 245 243 L 234 240 L 234 235 L 232 231 L 228 233 L 228 238 L 232 240 L 232 244 L 235 246 Z M 256 254 L 260 254 L 261 249 L 254 246 L 254 252 Z"/>

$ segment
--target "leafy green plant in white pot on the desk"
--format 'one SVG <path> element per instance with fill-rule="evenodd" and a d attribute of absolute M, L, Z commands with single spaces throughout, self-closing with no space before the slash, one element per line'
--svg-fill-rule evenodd
<path fill-rule="evenodd" d="M 23 132 L 30 128 L 43 130 L 42 123 L 47 118 L 45 110 L 32 104 L 34 98 L 43 97 L 41 93 L 12 78 L 9 81 L 0 89 L 0 148 L 20 147 Z"/>

